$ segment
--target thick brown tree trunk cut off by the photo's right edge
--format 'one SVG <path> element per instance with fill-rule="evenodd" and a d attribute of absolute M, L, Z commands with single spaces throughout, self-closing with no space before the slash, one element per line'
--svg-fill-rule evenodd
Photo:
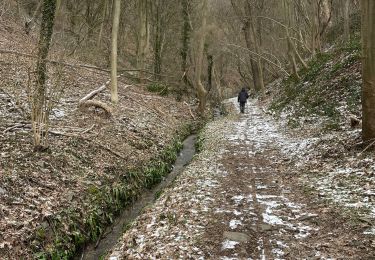
<path fill-rule="evenodd" d="M 362 138 L 375 139 L 375 1 L 362 0 Z"/>

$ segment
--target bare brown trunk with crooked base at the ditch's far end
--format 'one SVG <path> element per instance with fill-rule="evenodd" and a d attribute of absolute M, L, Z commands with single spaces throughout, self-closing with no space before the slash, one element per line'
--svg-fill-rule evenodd
<path fill-rule="evenodd" d="M 204 53 L 204 44 L 206 39 L 206 27 L 207 27 L 207 0 L 202 1 L 202 24 L 199 30 L 198 35 L 198 48 L 196 50 L 196 57 L 195 57 L 195 77 L 194 77 L 194 85 L 197 90 L 197 96 L 199 99 L 199 106 L 198 106 L 198 113 L 203 115 L 206 109 L 206 98 L 207 98 L 207 91 L 204 88 L 202 81 L 201 81 L 201 74 L 202 74 L 202 64 L 203 64 L 203 53 Z"/>

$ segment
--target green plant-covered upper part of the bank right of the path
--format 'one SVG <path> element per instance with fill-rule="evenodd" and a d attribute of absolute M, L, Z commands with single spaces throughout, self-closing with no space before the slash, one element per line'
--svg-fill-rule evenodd
<path fill-rule="evenodd" d="M 323 130 L 337 130 L 343 120 L 339 107 L 358 114 L 361 103 L 360 40 L 353 38 L 326 53 L 317 54 L 308 69 L 299 71 L 300 79 L 285 78 L 280 94 L 270 109 L 288 112 L 288 125 L 300 127 L 300 118 L 323 117 Z"/>

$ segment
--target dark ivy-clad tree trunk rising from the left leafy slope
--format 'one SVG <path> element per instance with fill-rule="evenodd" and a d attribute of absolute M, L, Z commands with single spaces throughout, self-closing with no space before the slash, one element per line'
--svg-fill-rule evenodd
<path fill-rule="evenodd" d="M 48 128 L 48 108 L 46 108 L 47 56 L 51 44 L 55 19 L 56 0 L 44 0 L 42 22 L 38 43 L 35 91 L 32 98 L 31 120 L 34 132 L 34 149 L 43 150 Z"/>

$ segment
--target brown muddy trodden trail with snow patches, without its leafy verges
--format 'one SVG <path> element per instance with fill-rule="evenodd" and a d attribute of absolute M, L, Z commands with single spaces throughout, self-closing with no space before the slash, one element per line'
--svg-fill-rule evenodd
<path fill-rule="evenodd" d="M 214 245 L 206 255 L 230 259 L 374 257 L 344 219 L 306 197 L 291 175 L 288 155 L 277 142 L 259 138 L 261 132 L 269 137 L 274 134 L 256 127 L 254 122 L 262 117 L 254 109 L 242 115 L 239 124 L 243 127 L 231 136 L 223 155 L 221 163 L 228 175 L 218 189 L 216 221 L 205 234 L 206 242 Z"/>

